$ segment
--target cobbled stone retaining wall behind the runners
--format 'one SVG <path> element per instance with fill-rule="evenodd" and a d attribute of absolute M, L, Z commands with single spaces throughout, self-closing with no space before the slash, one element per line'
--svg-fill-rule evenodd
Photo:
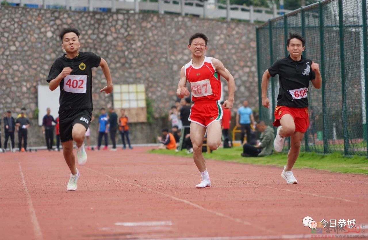
<path fill-rule="evenodd" d="M 245 98 L 253 108 L 258 108 L 253 24 L 171 14 L 0 6 L 0 115 L 6 109 L 19 112 L 21 107 L 26 107 L 28 114 L 33 113 L 37 107 L 38 84 L 47 84 L 53 61 L 63 54 L 57 35 L 68 25 L 80 29 L 81 51 L 95 52 L 106 59 L 113 83 L 145 84 L 146 95 L 153 100 L 157 119 L 167 114 L 176 100 L 180 69 L 191 58 L 188 39 L 195 32 L 204 32 L 208 36 L 206 55 L 220 59 L 235 78 L 233 112 Z M 222 81 L 227 95 L 226 80 Z M 100 107 L 112 104 L 112 95 L 99 93 L 105 84 L 102 70 L 94 70 L 94 115 Z"/>

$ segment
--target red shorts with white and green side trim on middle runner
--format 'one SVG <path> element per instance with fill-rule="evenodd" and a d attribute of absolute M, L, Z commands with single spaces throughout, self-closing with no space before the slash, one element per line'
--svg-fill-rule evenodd
<path fill-rule="evenodd" d="M 221 121 L 222 116 L 219 101 L 197 101 L 190 109 L 189 121 L 208 127 L 212 122 Z"/>

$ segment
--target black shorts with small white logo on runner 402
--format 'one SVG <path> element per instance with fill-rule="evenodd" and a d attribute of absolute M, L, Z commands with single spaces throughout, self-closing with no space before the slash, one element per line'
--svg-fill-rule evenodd
<path fill-rule="evenodd" d="M 86 131 L 91 123 L 92 109 L 59 111 L 60 142 L 73 140 L 71 132 L 74 124 L 82 124 Z"/>

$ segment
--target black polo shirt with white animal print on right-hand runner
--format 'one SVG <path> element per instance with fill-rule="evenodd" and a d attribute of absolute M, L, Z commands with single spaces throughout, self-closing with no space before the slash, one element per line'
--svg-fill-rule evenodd
<path fill-rule="evenodd" d="M 278 59 L 268 72 L 272 77 L 279 74 L 279 95 L 277 105 L 306 108 L 308 107 L 309 81 L 316 78 L 316 73 L 311 70 L 312 60 L 301 56 L 299 61 L 294 61 L 290 55 L 284 59 Z"/>

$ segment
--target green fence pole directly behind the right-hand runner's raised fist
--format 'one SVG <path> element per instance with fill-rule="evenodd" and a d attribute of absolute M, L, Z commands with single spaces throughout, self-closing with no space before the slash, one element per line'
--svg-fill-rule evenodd
<path fill-rule="evenodd" d="M 322 77 L 322 132 L 323 132 L 323 153 L 328 153 L 328 139 L 327 139 L 327 114 L 326 114 L 326 96 L 325 96 L 325 29 L 323 24 L 323 11 L 322 11 L 322 4 L 319 2 L 319 41 L 320 41 L 320 51 L 321 51 L 321 63 L 320 63 L 320 70 L 321 70 L 321 77 Z"/>

